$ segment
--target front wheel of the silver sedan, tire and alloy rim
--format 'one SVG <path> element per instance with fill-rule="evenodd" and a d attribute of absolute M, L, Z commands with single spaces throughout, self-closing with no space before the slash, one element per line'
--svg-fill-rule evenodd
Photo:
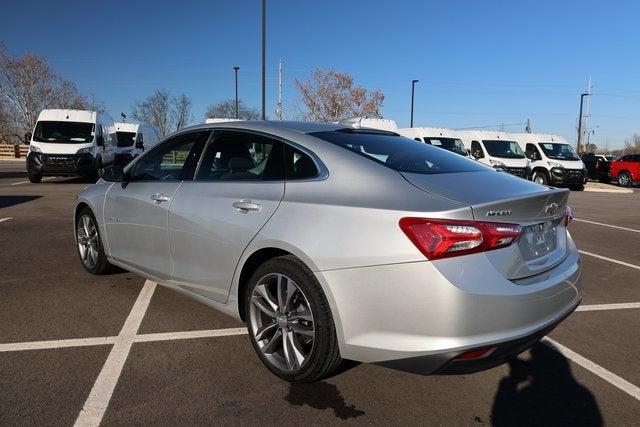
<path fill-rule="evenodd" d="M 84 208 L 76 221 L 76 243 L 82 266 L 91 274 L 103 274 L 110 264 L 100 239 L 100 230 L 93 212 Z"/>

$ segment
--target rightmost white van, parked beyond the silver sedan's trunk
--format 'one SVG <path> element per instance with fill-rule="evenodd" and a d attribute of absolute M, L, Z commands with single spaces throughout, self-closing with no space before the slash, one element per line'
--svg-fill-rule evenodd
<path fill-rule="evenodd" d="M 563 137 L 544 133 L 519 133 L 513 137 L 531 160 L 532 181 L 584 189 L 587 169 Z"/>

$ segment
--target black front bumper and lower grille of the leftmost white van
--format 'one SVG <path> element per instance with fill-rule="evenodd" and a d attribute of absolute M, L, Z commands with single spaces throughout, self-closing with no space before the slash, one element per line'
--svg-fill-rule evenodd
<path fill-rule="evenodd" d="M 29 153 L 27 171 L 41 175 L 87 175 L 95 171 L 95 159 L 89 154 Z"/>

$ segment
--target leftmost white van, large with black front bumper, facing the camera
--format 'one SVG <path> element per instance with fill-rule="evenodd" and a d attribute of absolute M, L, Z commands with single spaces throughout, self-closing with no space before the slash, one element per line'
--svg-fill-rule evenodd
<path fill-rule="evenodd" d="M 98 169 L 113 160 L 113 120 L 85 110 L 42 110 L 29 144 L 27 175 L 37 183 L 44 175 L 81 175 L 95 180 Z"/>

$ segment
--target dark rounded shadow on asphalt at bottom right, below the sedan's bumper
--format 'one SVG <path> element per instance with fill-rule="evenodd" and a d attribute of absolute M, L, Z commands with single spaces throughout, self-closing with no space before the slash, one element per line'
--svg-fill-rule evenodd
<path fill-rule="evenodd" d="M 498 386 L 492 422 L 496 426 L 601 426 L 595 397 L 578 383 L 562 355 L 537 344 L 531 358 L 509 361 L 509 376 Z"/>

